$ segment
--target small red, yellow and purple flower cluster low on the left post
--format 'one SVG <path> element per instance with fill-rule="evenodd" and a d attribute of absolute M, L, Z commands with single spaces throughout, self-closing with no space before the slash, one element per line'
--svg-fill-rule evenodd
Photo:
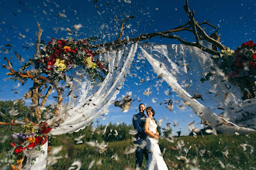
<path fill-rule="evenodd" d="M 32 148 L 39 149 L 40 145 L 44 145 L 48 141 L 48 133 L 51 128 L 47 123 L 41 122 L 40 124 L 28 123 L 22 126 L 21 133 L 12 134 L 14 141 L 11 143 L 12 149 L 9 151 L 5 159 L 5 163 L 14 164 L 15 160 L 24 156 L 23 151 Z"/>

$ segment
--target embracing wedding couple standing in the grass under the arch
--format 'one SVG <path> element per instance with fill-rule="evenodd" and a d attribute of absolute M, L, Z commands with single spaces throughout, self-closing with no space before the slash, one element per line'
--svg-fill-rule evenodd
<path fill-rule="evenodd" d="M 140 104 L 139 110 L 139 114 L 133 115 L 133 127 L 138 131 L 135 134 L 135 144 L 137 144 L 135 168 L 141 168 L 145 156 L 147 160 L 146 170 L 168 169 L 158 145 L 159 134 L 157 124 L 153 120 L 154 110 L 152 107 L 145 108 L 144 104 Z M 147 117 L 144 110 L 147 112 Z"/>

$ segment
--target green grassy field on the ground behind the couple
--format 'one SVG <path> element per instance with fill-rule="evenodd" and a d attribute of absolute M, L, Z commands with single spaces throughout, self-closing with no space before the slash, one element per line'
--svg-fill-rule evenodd
<path fill-rule="evenodd" d="M 161 139 L 160 148 L 169 169 L 255 169 L 256 134 L 218 134 L 174 137 L 174 143 Z M 68 169 L 73 162 L 81 162 L 81 169 L 132 169 L 135 154 L 129 152 L 133 141 L 115 141 L 106 143 L 108 147 L 102 154 L 97 147 L 87 144 L 73 145 L 68 139 L 64 141 L 62 157 L 48 169 Z M 54 148 L 54 146 L 52 146 Z M 145 169 L 144 161 L 143 169 Z M 75 166 L 74 166 L 75 167 Z M 73 168 L 71 168 L 73 169 Z"/>

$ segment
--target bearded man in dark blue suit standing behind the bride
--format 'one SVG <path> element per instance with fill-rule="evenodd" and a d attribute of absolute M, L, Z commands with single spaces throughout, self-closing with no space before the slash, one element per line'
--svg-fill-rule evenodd
<path fill-rule="evenodd" d="M 144 114 L 145 105 L 140 104 L 139 105 L 139 114 L 133 115 L 133 127 L 138 131 L 137 134 L 135 134 L 136 141 L 134 141 L 135 144 L 137 144 L 136 149 L 136 165 L 135 168 L 141 168 L 142 162 L 143 162 L 143 155 L 145 156 L 147 160 L 147 150 L 146 150 L 146 138 L 147 134 L 144 132 L 144 124 L 146 120 L 146 116 Z"/>

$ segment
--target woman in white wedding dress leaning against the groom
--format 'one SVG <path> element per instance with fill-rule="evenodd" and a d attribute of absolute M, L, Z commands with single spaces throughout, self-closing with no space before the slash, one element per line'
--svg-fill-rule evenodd
<path fill-rule="evenodd" d="M 161 150 L 158 145 L 159 134 L 157 132 L 157 124 L 153 120 L 154 110 L 152 107 L 146 108 L 147 118 L 144 125 L 144 131 L 147 134 L 147 167 L 146 170 L 164 170 L 168 169 L 164 162 L 164 158 L 161 156 Z"/>

